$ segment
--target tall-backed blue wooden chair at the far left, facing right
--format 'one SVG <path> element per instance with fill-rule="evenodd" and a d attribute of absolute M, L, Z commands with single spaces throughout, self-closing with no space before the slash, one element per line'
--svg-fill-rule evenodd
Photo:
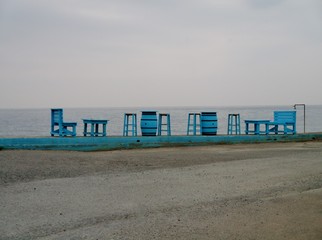
<path fill-rule="evenodd" d="M 51 109 L 51 136 L 58 135 L 64 136 L 76 136 L 77 122 L 64 122 L 63 109 L 53 108 Z"/>

